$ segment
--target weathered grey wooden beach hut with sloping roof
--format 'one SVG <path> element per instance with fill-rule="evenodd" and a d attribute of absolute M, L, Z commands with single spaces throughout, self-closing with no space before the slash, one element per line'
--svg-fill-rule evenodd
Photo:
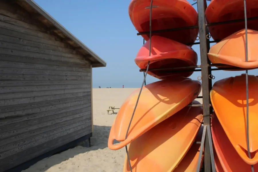
<path fill-rule="evenodd" d="M 92 68 L 105 66 L 34 1 L 0 1 L 1 172 L 92 136 Z"/>

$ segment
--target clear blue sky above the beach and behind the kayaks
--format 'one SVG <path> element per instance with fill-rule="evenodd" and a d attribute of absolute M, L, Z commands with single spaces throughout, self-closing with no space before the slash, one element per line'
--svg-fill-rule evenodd
<path fill-rule="evenodd" d="M 81 40 L 87 47 L 107 62 L 106 67 L 93 68 L 93 87 L 126 88 L 140 87 L 143 73 L 139 72 L 134 58 L 143 44 L 132 25 L 128 6 L 131 0 L 35 0 L 61 25 Z M 188 0 L 194 3 L 192 0 Z M 209 2 L 208 2 L 209 3 Z M 193 5 L 197 9 L 197 5 Z M 200 47 L 192 48 L 198 54 Z M 225 77 L 240 75 L 245 71 L 213 71 L 218 81 Z M 249 71 L 257 75 L 258 71 Z M 201 72 L 194 72 L 191 79 L 197 79 Z M 158 79 L 147 75 L 146 83 Z"/>

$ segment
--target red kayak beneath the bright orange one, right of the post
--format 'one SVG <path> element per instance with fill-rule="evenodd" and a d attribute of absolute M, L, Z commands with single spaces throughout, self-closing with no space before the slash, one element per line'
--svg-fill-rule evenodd
<path fill-rule="evenodd" d="M 251 165 L 239 157 L 215 114 L 212 118 L 211 132 L 216 150 L 216 154 L 214 154 L 216 170 L 219 172 L 251 172 Z M 257 171 L 258 163 L 253 167 L 254 171 Z"/>

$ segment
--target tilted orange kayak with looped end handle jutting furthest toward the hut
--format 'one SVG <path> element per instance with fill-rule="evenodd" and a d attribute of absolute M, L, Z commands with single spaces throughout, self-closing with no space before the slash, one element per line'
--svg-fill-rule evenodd
<path fill-rule="evenodd" d="M 139 91 L 140 89 L 137 89 L 131 93 L 120 107 L 108 138 L 108 147 L 112 150 L 126 146 L 132 140 L 191 103 L 199 95 L 201 83 L 190 78 L 179 77 L 144 86 L 128 137 L 125 139 Z M 120 143 L 114 145 L 115 139 Z"/>

